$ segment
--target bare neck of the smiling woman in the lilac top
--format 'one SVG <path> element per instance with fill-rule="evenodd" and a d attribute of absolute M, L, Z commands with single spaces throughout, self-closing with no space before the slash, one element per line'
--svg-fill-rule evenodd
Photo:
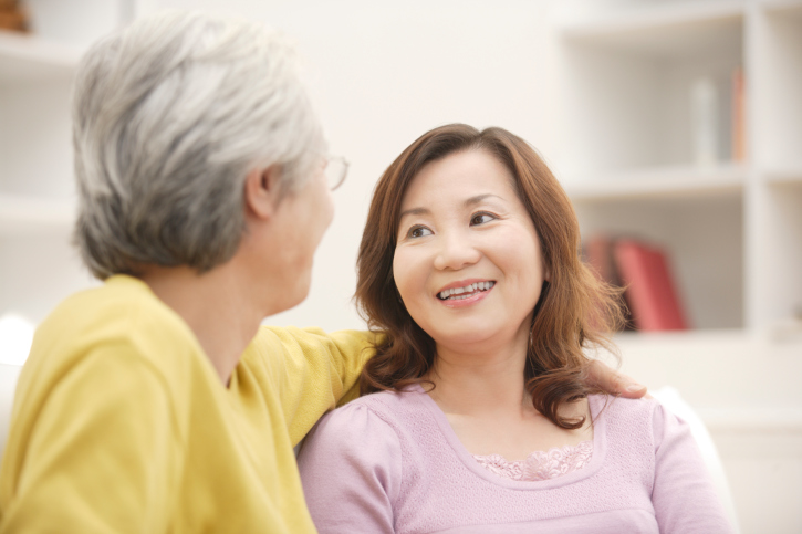
<path fill-rule="evenodd" d="M 437 346 L 427 377 L 435 384 L 431 398 L 446 413 L 491 415 L 528 412 L 531 400 L 524 388 L 529 333 L 502 346 Z"/>

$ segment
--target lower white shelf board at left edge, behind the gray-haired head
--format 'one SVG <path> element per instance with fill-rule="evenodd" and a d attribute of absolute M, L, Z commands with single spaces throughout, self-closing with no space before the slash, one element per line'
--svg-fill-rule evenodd
<path fill-rule="evenodd" d="M 0 235 L 69 232 L 74 219 L 69 200 L 0 193 Z"/>

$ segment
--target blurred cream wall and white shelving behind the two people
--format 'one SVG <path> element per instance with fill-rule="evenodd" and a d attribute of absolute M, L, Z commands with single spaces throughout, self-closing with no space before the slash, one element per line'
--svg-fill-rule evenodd
<path fill-rule="evenodd" d="M 376 179 L 435 126 L 502 126 L 569 191 L 600 276 L 629 285 L 622 368 L 704 421 L 740 530 L 802 532 L 802 0 L 0 0 L 3 364 L 96 283 L 70 245 L 75 65 L 165 8 L 284 32 L 351 161 L 310 296 L 269 323 L 363 328 Z"/>

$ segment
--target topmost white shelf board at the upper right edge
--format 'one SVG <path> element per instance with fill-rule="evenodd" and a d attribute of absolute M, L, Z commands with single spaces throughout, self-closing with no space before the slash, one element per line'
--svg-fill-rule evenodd
<path fill-rule="evenodd" d="M 573 42 L 656 56 L 689 56 L 698 50 L 729 50 L 740 39 L 742 1 L 666 2 L 608 9 L 558 22 Z"/>

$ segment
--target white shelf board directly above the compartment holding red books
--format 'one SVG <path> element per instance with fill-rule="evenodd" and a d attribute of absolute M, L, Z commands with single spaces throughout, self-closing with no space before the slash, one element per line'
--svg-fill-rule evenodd
<path fill-rule="evenodd" d="M 720 165 L 709 169 L 676 166 L 565 179 L 564 186 L 574 201 L 695 198 L 739 193 L 746 175 L 742 165 Z"/>

